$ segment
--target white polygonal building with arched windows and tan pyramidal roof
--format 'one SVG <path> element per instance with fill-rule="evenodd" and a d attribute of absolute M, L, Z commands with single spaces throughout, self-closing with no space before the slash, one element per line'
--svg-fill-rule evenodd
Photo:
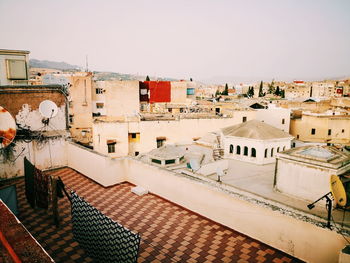
<path fill-rule="evenodd" d="M 251 120 L 221 129 L 226 158 L 267 164 L 276 153 L 290 149 L 293 137 L 269 124 Z"/>

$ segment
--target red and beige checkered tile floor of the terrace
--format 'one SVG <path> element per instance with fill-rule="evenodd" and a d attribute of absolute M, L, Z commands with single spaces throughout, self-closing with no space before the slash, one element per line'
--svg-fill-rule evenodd
<path fill-rule="evenodd" d="M 155 195 L 137 196 L 131 184 L 104 188 L 69 168 L 50 174 L 60 176 L 113 220 L 139 232 L 138 262 L 301 262 Z M 74 241 L 67 198 L 59 200 L 61 224 L 56 228 L 49 212 L 29 207 L 24 180 L 17 191 L 19 219 L 56 262 L 92 262 Z"/>

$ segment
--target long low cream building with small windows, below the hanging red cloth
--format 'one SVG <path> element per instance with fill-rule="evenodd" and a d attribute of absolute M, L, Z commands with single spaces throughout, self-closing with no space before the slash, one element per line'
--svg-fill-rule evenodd
<path fill-rule="evenodd" d="M 191 118 L 149 117 L 138 121 L 95 120 L 93 148 L 111 157 L 135 156 L 165 144 L 193 142 L 206 133 L 253 117 L 238 112 L 233 118 L 192 116 Z"/>

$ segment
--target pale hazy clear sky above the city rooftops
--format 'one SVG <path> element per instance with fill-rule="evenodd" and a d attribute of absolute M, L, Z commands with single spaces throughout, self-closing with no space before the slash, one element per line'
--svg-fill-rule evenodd
<path fill-rule="evenodd" d="M 0 0 L 0 48 L 216 82 L 350 76 L 348 0 Z"/>

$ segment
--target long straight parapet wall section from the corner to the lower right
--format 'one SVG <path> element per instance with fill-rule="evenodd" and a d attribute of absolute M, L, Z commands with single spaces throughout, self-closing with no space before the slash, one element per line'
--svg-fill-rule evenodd
<path fill-rule="evenodd" d="M 129 159 L 127 167 L 127 181 L 306 262 L 336 263 L 346 245 L 340 234 L 304 220 L 302 212 L 293 215 L 282 205 L 137 160 Z"/>

